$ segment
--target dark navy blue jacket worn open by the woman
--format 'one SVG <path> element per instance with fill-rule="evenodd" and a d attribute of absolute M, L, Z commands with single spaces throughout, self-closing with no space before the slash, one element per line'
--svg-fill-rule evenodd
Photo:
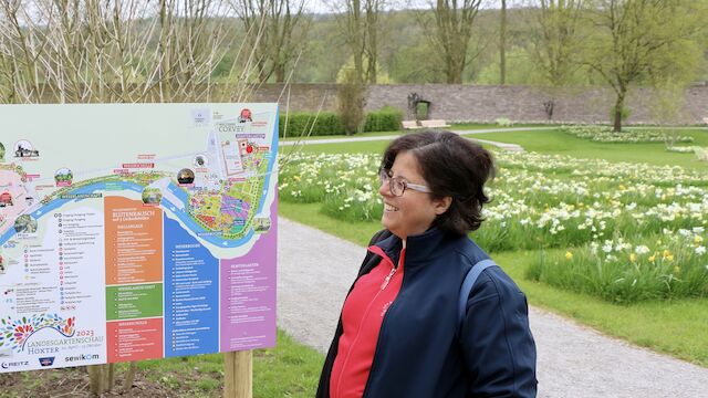
<path fill-rule="evenodd" d="M 382 231 L 372 242 L 398 262 L 400 239 Z M 458 331 L 462 281 L 473 264 L 488 258 L 469 238 L 438 229 L 408 237 L 403 285 L 384 317 L 364 397 L 535 396 L 535 345 L 527 300 L 499 266 L 485 270 L 472 286 Z M 357 279 L 379 261 L 369 253 Z M 341 335 L 340 318 L 317 398 L 330 396 Z"/>

